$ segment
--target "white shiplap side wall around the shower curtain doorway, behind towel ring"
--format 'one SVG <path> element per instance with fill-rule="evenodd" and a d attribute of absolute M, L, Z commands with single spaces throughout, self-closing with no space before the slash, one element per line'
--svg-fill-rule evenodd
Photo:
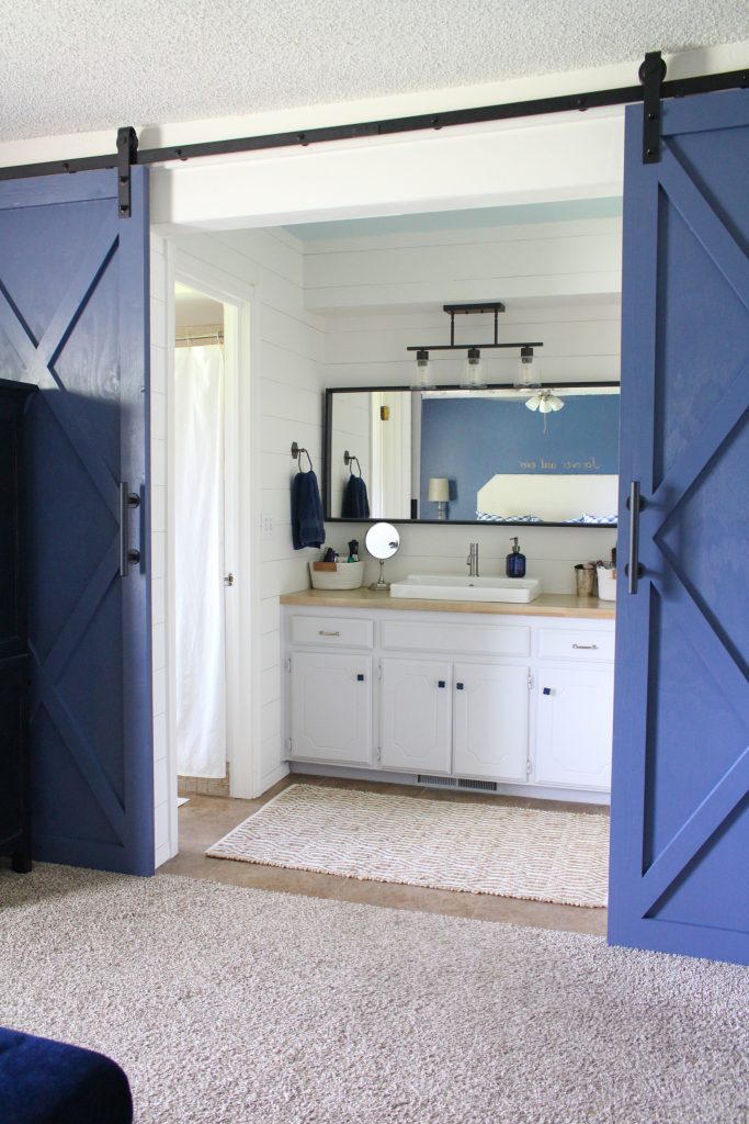
<path fill-rule="evenodd" d="M 283 230 L 253 230 L 220 235 L 184 235 L 173 241 L 175 252 L 186 254 L 208 271 L 219 271 L 230 287 L 253 287 L 253 333 L 249 378 L 253 416 L 259 424 L 240 439 L 254 448 L 252 463 L 253 520 L 259 538 L 261 516 L 270 516 L 273 532 L 259 542 L 259 601 L 254 629 L 259 634 L 261 707 L 258 785 L 265 790 L 286 772 L 281 742 L 281 642 L 278 597 L 308 583 L 307 560 L 316 551 L 294 551 L 291 541 L 290 484 L 296 464 L 290 454 L 292 441 L 309 448 L 320 469 L 322 406 L 318 364 L 322 354 L 322 323 L 304 308 L 301 244 Z M 170 856 L 167 746 L 167 668 L 165 615 L 166 432 L 168 324 L 166 284 L 168 271 L 164 242 L 152 238 L 152 457 L 153 457 L 153 616 L 154 616 L 154 729 L 156 861 Z M 258 637 L 256 637 L 258 638 Z M 252 637 L 243 643 L 250 643 Z M 174 835 L 172 834 L 172 840 Z"/>

